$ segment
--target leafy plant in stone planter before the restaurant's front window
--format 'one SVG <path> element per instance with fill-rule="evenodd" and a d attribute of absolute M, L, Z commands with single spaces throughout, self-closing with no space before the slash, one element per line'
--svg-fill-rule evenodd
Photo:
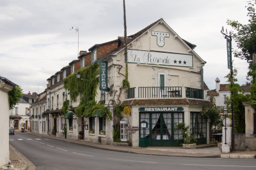
<path fill-rule="evenodd" d="M 176 123 L 176 129 L 180 129 L 182 131 L 182 136 L 183 136 L 183 143 L 182 143 L 182 148 L 196 148 L 196 138 L 194 135 L 188 135 L 189 131 L 189 125 L 186 126 L 184 122 L 179 122 Z"/>

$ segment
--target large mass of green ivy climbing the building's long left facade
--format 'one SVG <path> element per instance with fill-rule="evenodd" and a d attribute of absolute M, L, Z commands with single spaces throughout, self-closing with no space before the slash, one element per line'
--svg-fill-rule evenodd
<path fill-rule="evenodd" d="M 81 79 L 77 79 L 76 74 L 81 74 Z M 97 87 L 99 85 L 99 65 L 93 64 L 79 69 L 76 73 L 70 74 L 64 79 L 64 88 L 70 92 L 72 101 L 76 101 L 77 96 L 81 94 L 81 101 L 77 106 L 75 113 L 77 117 L 92 117 L 98 110 L 102 111 L 102 116 L 111 119 L 112 115 L 104 103 L 97 103 Z"/>

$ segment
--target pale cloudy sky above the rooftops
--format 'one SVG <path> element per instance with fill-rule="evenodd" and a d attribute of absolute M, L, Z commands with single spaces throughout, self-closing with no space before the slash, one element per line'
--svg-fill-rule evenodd
<path fill-rule="evenodd" d="M 248 23 L 246 0 L 126 0 L 127 35 L 159 18 L 179 36 L 196 45 L 207 63 L 204 81 L 215 89 L 215 79 L 227 83 L 227 19 Z M 47 78 L 77 59 L 79 51 L 124 36 L 122 0 L 1 0 L 0 76 L 24 93 L 44 92 Z M 78 27 L 76 32 L 71 27 Z M 236 48 L 235 42 L 232 46 Z M 248 64 L 232 58 L 237 83 L 246 83 Z"/>

